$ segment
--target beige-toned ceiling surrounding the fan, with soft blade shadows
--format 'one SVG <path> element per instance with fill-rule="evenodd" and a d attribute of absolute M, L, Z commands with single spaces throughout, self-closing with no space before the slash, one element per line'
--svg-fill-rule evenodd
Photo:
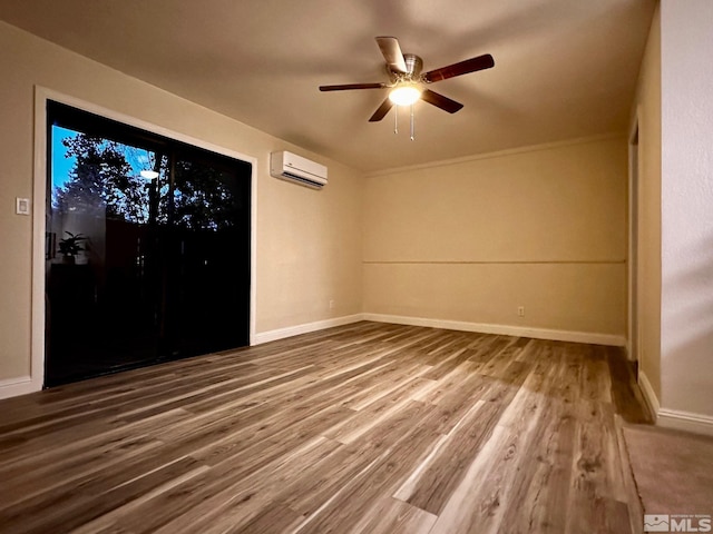
<path fill-rule="evenodd" d="M 0 19 L 307 150 L 373 171 L 624 131 L 655 0 L 0 0 Z M 375 36 L 465 108 L 368 122 L 387 81 Z"/>

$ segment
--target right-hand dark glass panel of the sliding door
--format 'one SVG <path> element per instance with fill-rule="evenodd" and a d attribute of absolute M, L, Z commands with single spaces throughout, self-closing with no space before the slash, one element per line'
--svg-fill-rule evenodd
<path fill-rule="evenodd" d="M 176 156 L 173 231 L 175 350 L 202 354 L 247 345 L 250 182 L 244 165 Z"/>

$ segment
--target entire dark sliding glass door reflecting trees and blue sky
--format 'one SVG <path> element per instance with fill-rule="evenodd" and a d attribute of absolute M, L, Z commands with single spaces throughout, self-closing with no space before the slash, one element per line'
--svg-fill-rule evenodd
<path fill-rule="evenodd" d="M 252 165 L 47 117 L 45 386 L 248 345 Z"/>

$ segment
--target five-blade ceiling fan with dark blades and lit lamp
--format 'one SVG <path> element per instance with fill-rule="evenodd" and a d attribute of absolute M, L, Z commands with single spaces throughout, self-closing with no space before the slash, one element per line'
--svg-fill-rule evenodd
<path fill-rule="evenodd" d="M 422 87 L 436 81 L 447 80 L 456 76 L 468 75 L 478 70 L 489 69 L 495 66 L 492 56 L 486 53 L 476 58 L 466 59 L 458 63 L 441 67 L 421 73 L 423 60 L 413 53 L 402 53 L 399 40 L 395 37 L 377 37 L 377 43 L 387 60 L 388 82 L 381 83 L 344 83 L 340 86 L 320 86 L 320 91 L 345 91 L 351 89 L 391 89 L 389 97 L 379 106 L 379 109 L 369 119 L 377 122 L 384 118 L 394 106 L 409 106 L 421 99 L 449 113 L 455 113 L 463 107 L 462 103 L 451 100 L 443 95 Z"/>

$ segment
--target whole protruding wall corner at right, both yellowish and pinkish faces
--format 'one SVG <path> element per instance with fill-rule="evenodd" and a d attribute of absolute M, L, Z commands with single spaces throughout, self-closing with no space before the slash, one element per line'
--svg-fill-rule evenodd
<path fill-rule="evenodd" d="M 641 378 L 658 423 L 713 434 L 713 4 L 663 0 L 635 100 Z"/>

